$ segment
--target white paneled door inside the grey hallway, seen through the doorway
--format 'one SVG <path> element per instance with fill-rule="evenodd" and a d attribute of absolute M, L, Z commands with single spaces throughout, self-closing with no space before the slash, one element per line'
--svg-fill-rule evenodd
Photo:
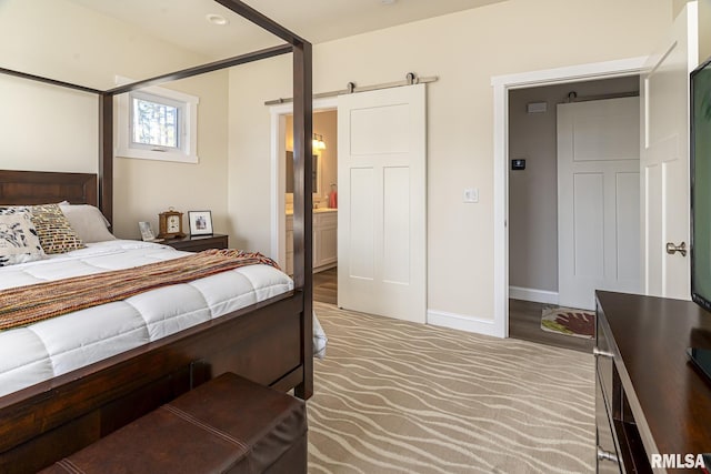
<path fill-rule="evenodd" d="M 640 291 L 638 98 L 558 105 L 559 303 Z"/>

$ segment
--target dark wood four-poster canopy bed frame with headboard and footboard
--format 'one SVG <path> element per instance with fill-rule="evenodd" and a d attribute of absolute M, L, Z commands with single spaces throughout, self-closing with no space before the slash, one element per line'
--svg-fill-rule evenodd
<path fill-rule="evenodd" d="M 293 56 L 293 292 L 0 397 L 0 472 L 28 473 L 111 433 L 224 372 L 308 399 L 313 392 L 311 44 L 239 0 L 216 0 L 287 43 L 111 90 L 0 67 L 0 72 L 98 95 L 99 173 L 0 171 L 0 204 L 68 200 L 113 218 L 113 97 L 279 54 Z"/>

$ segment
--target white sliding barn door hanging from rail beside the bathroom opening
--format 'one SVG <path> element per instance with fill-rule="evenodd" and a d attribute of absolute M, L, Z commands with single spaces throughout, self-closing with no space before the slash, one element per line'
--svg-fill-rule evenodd
<path fill-rule="evenodd" d="M 424 323 L 425 85 L 339 97 L 338 305 Z"/>

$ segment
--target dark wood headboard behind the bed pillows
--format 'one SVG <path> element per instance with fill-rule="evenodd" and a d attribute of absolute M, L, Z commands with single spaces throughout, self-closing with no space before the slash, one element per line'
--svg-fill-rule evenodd
<path fill-rule="evenodd" d="M 97 175 L 0 170 L 0 204 L 48 204 L 60 201 L 97 205 Z"/>

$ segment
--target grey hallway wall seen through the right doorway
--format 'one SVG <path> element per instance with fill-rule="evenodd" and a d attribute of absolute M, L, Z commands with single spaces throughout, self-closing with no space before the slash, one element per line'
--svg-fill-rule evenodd
<path fill-rule="evenodd" d="M 578 97 L 639 91 L 639 78 L 520 89 L 509 93 L 509 159 L 525 159 L 525 170 L 509 163 L 509 284 L 558 292 L 558 177 L 555 105 Z M 548 112 L 528 113 L 530 102 Z"/>

